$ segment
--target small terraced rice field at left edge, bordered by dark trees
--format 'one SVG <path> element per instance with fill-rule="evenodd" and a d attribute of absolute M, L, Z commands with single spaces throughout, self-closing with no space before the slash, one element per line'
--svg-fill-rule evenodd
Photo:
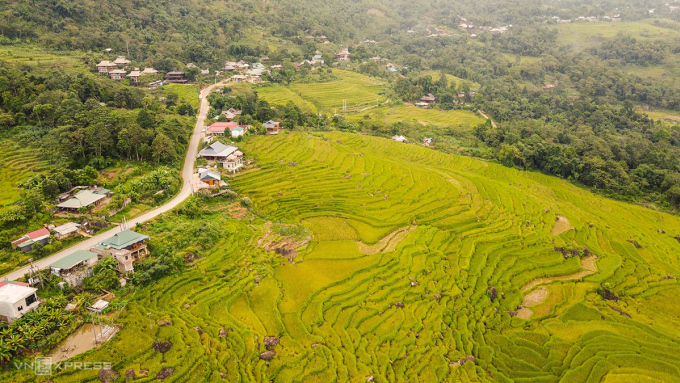
<path fill-rule="evenodd" d="M 34 151 L 0 141 L 0 211 L 19 199 L 19 182 L 48 166 L 48 161 L 37 159 Z"/>

